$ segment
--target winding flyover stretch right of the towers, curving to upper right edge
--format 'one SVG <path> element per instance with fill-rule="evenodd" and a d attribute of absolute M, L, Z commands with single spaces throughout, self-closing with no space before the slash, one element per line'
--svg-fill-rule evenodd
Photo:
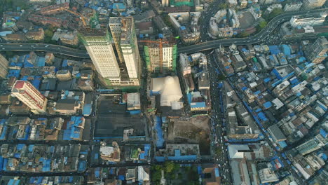
<path fill-rule="evenodd" d="M 270 22 L 268 22 L 268 25 L 266 25 L 266 27 L 261 30 L 261 32 L 255 34 L 254 36 L 250 36 L 247 38 L 239 38 L 239 39 L 220 39 L 220 40 L 198 43 L 192 46 L 185 46 L 182 48 L 178 48 L 178 53 L 191 54 L 202 50 L 219 48 L 219 46 L 230 46 L 232 43 L 235 43 L 235 45 L 258 43 L 259 41 L 265 39 L 269 34 L 271 34 L 271 32 L 273 32 L 273 30 L 276 27 L 278 27 L 280 23 L 289 20 L 290 18 L 292 18 L 293 15 L 312 16 L 326 11 L 328 11 L 328 8 L 316 9 L 312 11 L 296 11 L 296 12 L 284 13 L 273 18 Z"/>

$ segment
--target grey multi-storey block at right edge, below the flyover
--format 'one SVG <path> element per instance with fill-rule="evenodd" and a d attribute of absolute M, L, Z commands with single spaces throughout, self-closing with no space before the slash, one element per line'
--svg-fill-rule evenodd
<path fill-rule="evenodd" d="M 308 46 L 305 54 L 310 62 L 315 64 L 322 62 L 327 57 L 328 41 L 324 36 L 317 38 L 313 44 Z"/>

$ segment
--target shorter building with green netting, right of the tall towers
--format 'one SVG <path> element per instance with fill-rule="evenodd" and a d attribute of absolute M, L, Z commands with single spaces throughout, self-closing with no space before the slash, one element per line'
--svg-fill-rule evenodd
<path fill-rule="evenodd" d="M 144 54 L 146 56 L 146 67 L 149 71 L 158 72 L 160 69 L 162 71 L 175 71 L 177 45 L 174 42 L 162 43 L 161 52 L 160 41 L 148 42 L 144 46 Z"/>

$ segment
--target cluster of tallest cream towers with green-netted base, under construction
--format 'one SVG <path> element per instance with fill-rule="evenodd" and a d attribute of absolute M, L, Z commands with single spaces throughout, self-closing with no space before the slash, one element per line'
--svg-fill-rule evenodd
<path fill-rule="evenodd" d="M 86 29 L 81 40 L 108 86 L 139 85 L 140 56 L 132 17 L 110 18 L 109 28 Z"/>

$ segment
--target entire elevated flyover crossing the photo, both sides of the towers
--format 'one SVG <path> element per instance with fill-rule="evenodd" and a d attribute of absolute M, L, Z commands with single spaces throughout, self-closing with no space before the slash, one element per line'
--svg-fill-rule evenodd
<path fill-rule="evenodd" d="M 312 11 L 296 11 L 284 13 L 276 16 L 261 32 L 255 34 L 254 36 L 249 36 L 247 38 L 238 38 L 238 39 L 220 39 L 214 41 L 207 41 L 203 43 L 194 44 L 192 46 L 184 46 L 182 48 L 178 48 L 178 53 L 196 53 L 202 50 L 211 50 L 214 48 L 219 48 L 219 46 L 230 46 L 232 43 L 235 45 L 245 45 L 245 44 L 253 44 L 258 43 L 259 41 L 265 39 L 273 30 L 280 25 L 280 23 L 285 22 L 292 18 L 293 15 L 315 15 L 317 13 L 323 13 L 328 11 L 328 8 L 321 8 Z M 44 52 L 52 52 L 59 53 L 62 55 L 68 55 L 71 57 L 79 57 L 83 59 L 90 59 L 90 56 L 86 52 L 86 50 L 77 50 L 73 48 L 69 48 L 66 46 L 58 46 L 53 44 L 46 43 L 0 43 L 0 51 L 1 50 L 13 50 L 13 51 L 44 51 Z"/>

